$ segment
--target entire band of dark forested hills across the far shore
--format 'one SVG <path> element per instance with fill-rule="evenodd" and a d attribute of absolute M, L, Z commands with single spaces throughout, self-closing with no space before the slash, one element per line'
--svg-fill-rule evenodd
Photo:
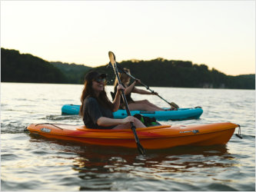
<path fill-rule="evenodd" d="M 238 88 L 255 89 L 255 74 L 231 76 L 207 65 L 191 61 L 156 58 L 151 61 L 121 61 L 135 78 L 148 86 L 174 88 Z M 110 67 L 91 68 L 85 65 L 49 62 L 30 54 L 20 54 L 13 49 L 1 48 L 1 81 L 27 83 L 82 84 L 90 70 L 108 74 L 108 84 L 113 84 L 115 74 Z"/>

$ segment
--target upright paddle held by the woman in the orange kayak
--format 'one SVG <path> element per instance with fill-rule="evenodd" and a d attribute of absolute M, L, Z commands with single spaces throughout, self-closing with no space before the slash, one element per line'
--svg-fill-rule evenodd
<path fill-rule="evenodd" d="M 114 55 L 114 53 L 111 52 L 111 51 L 108 51 L 108 57 L 110 59 L 110 63 L 112 65 L 112 68 L 115 71 L 115 76 L 118 78 L 118 84 L 121 84 L 121 80 L 120 80 L 119 75 L 118 75 L 118 69 L 117 69 L 117 66 L 116 66 L 116 63 L 115 63 L 115 55 Z M 127 112 L 128 116 L 131 116 L 131 112 L 129 110 L 128 103 L 127 103 L 127 100 L 125 98 L 125 92 L 124 92 L 123 89 L 121 89 L 121 96 L 122 96 L 123 100 L 125 101 L 126 112 Z M 137 132 L 136 132 L 136 127 L 133 124 L 133 122 L 131 122 L 131 130 L 132 130 L 133 134 L 135 135 L 135 142 L 137 144 L 138 151 L 140 152 L 140 154 L 145 154 L 145 149 L 144 149 L 144 147 L 142 147 L 142 145 L 141 145 L 141 143 L 140 143 L 140 141 L 138 139 L 138 135 L 137 135 Z"/>

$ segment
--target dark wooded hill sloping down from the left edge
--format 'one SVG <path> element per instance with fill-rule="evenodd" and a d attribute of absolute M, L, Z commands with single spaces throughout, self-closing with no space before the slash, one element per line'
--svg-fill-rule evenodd
<path fill-rule="evenodd" d="M 1 48 L 1 81 L 66 83 L 68 79 L 62 71 L 42 58 Z"/>

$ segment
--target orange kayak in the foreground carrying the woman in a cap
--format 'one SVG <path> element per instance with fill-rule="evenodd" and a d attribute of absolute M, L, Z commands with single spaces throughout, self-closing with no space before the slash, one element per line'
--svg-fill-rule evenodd
<path fill-rule="evenodd" d="M 197 125 L 160 125 L 137 128 L 138 138 L 145 149 L 161 149 L 180 145 L 227 144 L 238 124 L 230 122 Z M 135 137 L 131 129 L 102 130 L 68 124 L 30 124 L 31 134 L 40 134 L 66 141 L 86 144 L 134 147 Z"/>

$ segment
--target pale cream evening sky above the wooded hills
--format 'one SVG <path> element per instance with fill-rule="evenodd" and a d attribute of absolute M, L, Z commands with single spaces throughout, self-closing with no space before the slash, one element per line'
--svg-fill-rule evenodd
<path fill-rule="evenodd" d="M 96 67 L 192 61 L 255 73 L 255 1 L 1 1 L 1 47 Z"/>

